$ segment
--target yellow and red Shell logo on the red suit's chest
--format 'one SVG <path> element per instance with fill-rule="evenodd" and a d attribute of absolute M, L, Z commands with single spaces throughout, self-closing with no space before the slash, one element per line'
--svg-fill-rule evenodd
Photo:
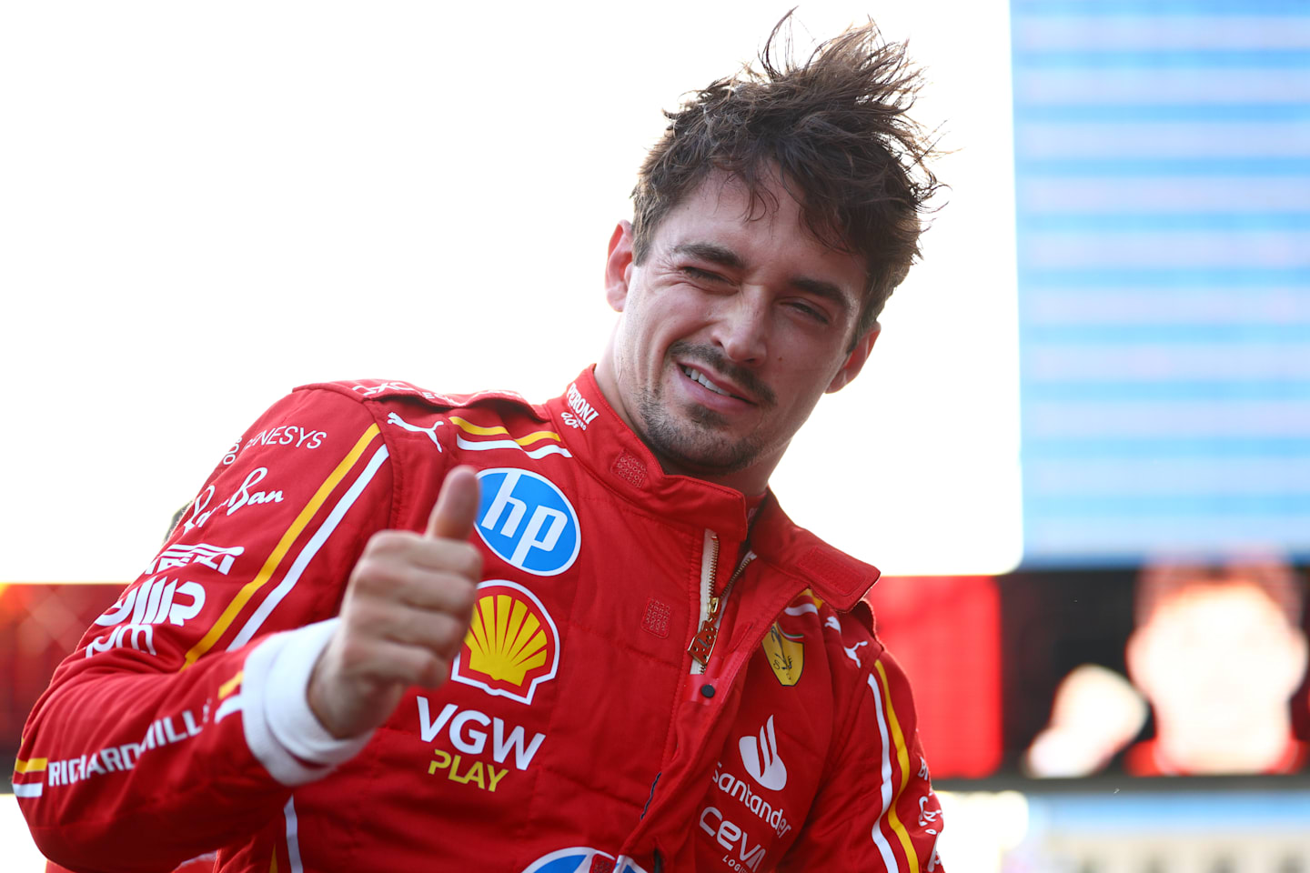
<path fill-rule="evenodd" d="M 479 584 L 473 622 L 451 678 L 532 703 L 537 686 L 555 678 L 558 666 L 559 631 L 537 596 L 504 579 Z"/>

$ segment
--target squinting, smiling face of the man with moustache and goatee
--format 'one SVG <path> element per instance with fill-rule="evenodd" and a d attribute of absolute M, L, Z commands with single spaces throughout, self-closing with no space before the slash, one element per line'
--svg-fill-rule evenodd
<path fill-rule="evenodd" d="M 624 317 L 597 369 L 620 415 L 669 472 L 764 490 L 824 391 L 850 381 L 876 331 L 852 351 L 866 271 L 816 241 L 774 185 L 764 215 L 710 175 L 631 263 L 610 243 L 608 296 Z M 612 382 L 612 383 L 608 383 Z"/>

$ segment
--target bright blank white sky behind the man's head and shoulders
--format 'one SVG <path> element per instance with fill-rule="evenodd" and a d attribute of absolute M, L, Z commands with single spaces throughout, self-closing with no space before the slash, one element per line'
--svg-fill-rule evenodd
<path fill-rule="evenodd" d="M 0 582 L 134 579 L 224 450 L 313 381 L 559 393 L 660 107 L 791 0 L 0 9 Z M 861 378 L 774 478 L 892 573 L 1020 554 L 1009 18 L 874 16 L 927 68 L 952 187 Z"/>

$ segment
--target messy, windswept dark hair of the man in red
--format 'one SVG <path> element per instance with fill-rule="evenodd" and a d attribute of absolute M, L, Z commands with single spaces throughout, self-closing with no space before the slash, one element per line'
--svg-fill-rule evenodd
<path fill-rule="evenodd" d="M 861 255 L 869 285 L 855 338 L 878 319 L 918 258 L 925 203 L 937 191 L 926 166 L 930 136 L 907 111 L 921 85 L 905 43 L 887 43 L 870 21 L 791 60 L 791 12 L 747 65 L 693 93 L 646 156 L 633 190 L 633 259 L 650 254 L 660 221 L 720 170 L 749 191 L 761 217 L 778 178 L 821 243 Z M 773 204 L 776 205 L 776 204 Z"/>

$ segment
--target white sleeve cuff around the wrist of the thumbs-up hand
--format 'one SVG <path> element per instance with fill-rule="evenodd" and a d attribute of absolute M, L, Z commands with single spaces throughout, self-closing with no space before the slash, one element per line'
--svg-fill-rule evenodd
<path fill-rule="evenodd" d="M 373 737 L 369 730 L 337 739 L 309 709 L 309 674 L 339 620 L 333 618 L 274 633 L 246 656 L 241 678 L 246 745 L 283 785 L 303 785 L 326 776 Z"/>

